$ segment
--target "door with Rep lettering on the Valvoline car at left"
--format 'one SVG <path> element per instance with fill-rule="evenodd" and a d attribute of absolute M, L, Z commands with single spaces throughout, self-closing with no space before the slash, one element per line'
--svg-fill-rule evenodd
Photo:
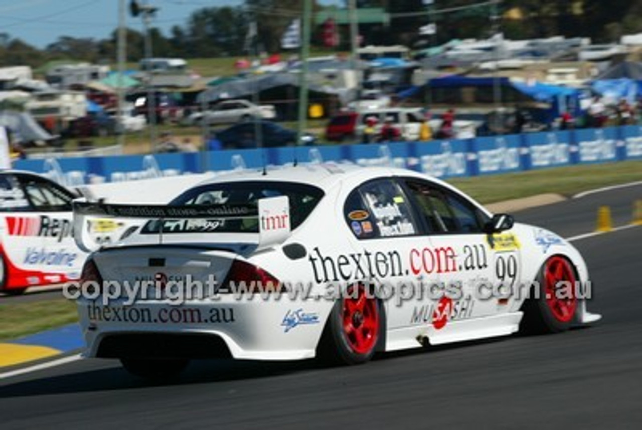
<path fill-rule="evenodd" d="M 23 262 L 33 270 L 43 273 L 48 282 L 61 282 L 66 277 L 78 277 L 85 254 L 78 250 L 73 238 L 74 196 L 58 184 L 35 175 L 17 175 L 24 194 L 33 209 L 37 229 L 33 243 L 25 251 Z"/>

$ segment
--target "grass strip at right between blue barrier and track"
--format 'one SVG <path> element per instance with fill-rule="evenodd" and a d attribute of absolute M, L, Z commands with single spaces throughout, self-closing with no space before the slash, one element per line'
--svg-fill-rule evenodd
<path fill-rule="evenodd" d="M 544 193 L 571 196 L 589 189 L 626 184 L 638 180 L 642 180 L 642 161 L 453 178 L 448 182 L 480 203 L 494 203 Z"/>

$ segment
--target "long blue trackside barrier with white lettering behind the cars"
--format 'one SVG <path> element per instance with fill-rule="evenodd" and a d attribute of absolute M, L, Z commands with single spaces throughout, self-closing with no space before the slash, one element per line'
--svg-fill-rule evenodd
<path fill-rule="evenodd" d="M 642 159 L 642 126 L 638 125 L 430 142 L 18 160 L 14 167 L 73 186 L 284 166 L 295 161 L 395 166 L 452 178 L 635 159 Z"/>

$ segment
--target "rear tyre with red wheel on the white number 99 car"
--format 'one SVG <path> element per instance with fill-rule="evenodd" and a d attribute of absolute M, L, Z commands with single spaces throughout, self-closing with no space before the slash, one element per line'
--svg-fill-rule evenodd
<path fill-rule="evenodd" d="M 381 302 L 368 295 L 363 285 L 356 285 L 334 304 L 317 357 L 330 365 L 365 363 L 379 349 L 384 324 Z"/>

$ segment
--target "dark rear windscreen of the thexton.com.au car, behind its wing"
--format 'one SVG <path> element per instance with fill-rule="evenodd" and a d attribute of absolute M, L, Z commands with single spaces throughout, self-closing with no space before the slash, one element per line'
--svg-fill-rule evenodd
<path fill-rule="evenodd" d="M 317 187 L 292 182 L 230 182 L 201 185 L 175 198 L 169 205 L 247 205 L 258 207 L 261 198 L 288 196 L 290 200 L 290 223 L 295 229 L 308 218 L 324 192 Z M 159 233 L 160 221 L 149 221 L 141 229 L 143 234 Z M 259 220 L 256 217 L 243 219 L 166 219 L 163 233 L 257 233 Z"/>

